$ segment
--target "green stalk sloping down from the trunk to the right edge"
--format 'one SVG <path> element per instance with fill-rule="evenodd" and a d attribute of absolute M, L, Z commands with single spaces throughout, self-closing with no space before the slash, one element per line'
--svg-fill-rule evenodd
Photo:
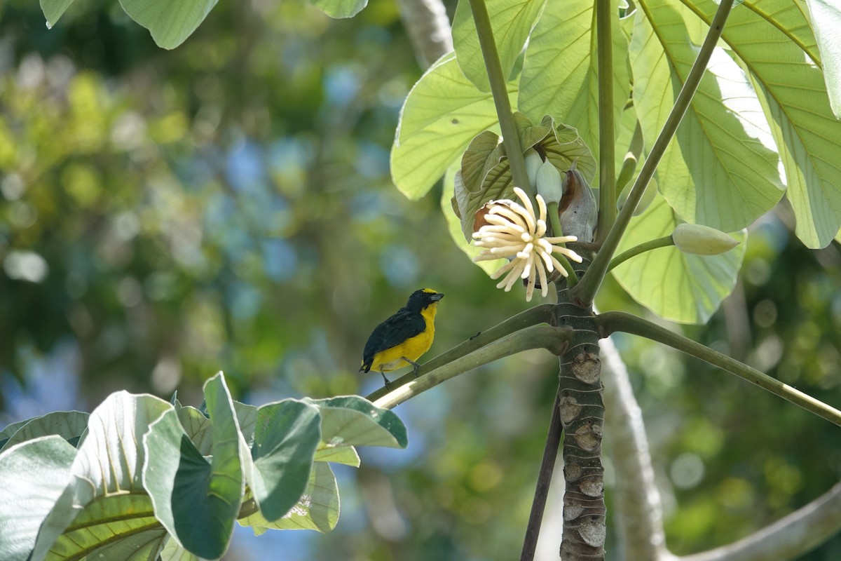
<path fill-rule="evenodd" d="M 738 360 L 728 357 L 721 352 L 713 351 L 710 347 L 706 347 L 706 345 L 701 345 L 699 342 L 692 341 L 688 337 L 669 331 L 651 321 L 643 320 L 643 318 L 638 318 L 635 315 L 624 312 L 606 312 L 596 316 L 596 324 L 600 327 L 600 335 L 602 337 L 609 336 L 616 331 L 622 331 L 647 337 L 652 341 L 659 341 L 678 351 L 685 352 L 691 357 L 700 358 L 713 366 L 736 374 L 739 378 L 748 380 L 748 382 L 756 384 L 762 389 L 767 389 L 772 394 L 778 395 L 784 400 L 791 401 L 795 405 L 800 405 L 803 409 L 841 426 L 841 411 L 820 400 L 816 400 L 809 394 L 804 394 L 799 389 L 794 389 L 788 384 L 783 384 L 776 378 L 771 378 L 768 374 L 759 372 L 756 368 L 751 368 L 747 364 L 740 363 Z"/>

